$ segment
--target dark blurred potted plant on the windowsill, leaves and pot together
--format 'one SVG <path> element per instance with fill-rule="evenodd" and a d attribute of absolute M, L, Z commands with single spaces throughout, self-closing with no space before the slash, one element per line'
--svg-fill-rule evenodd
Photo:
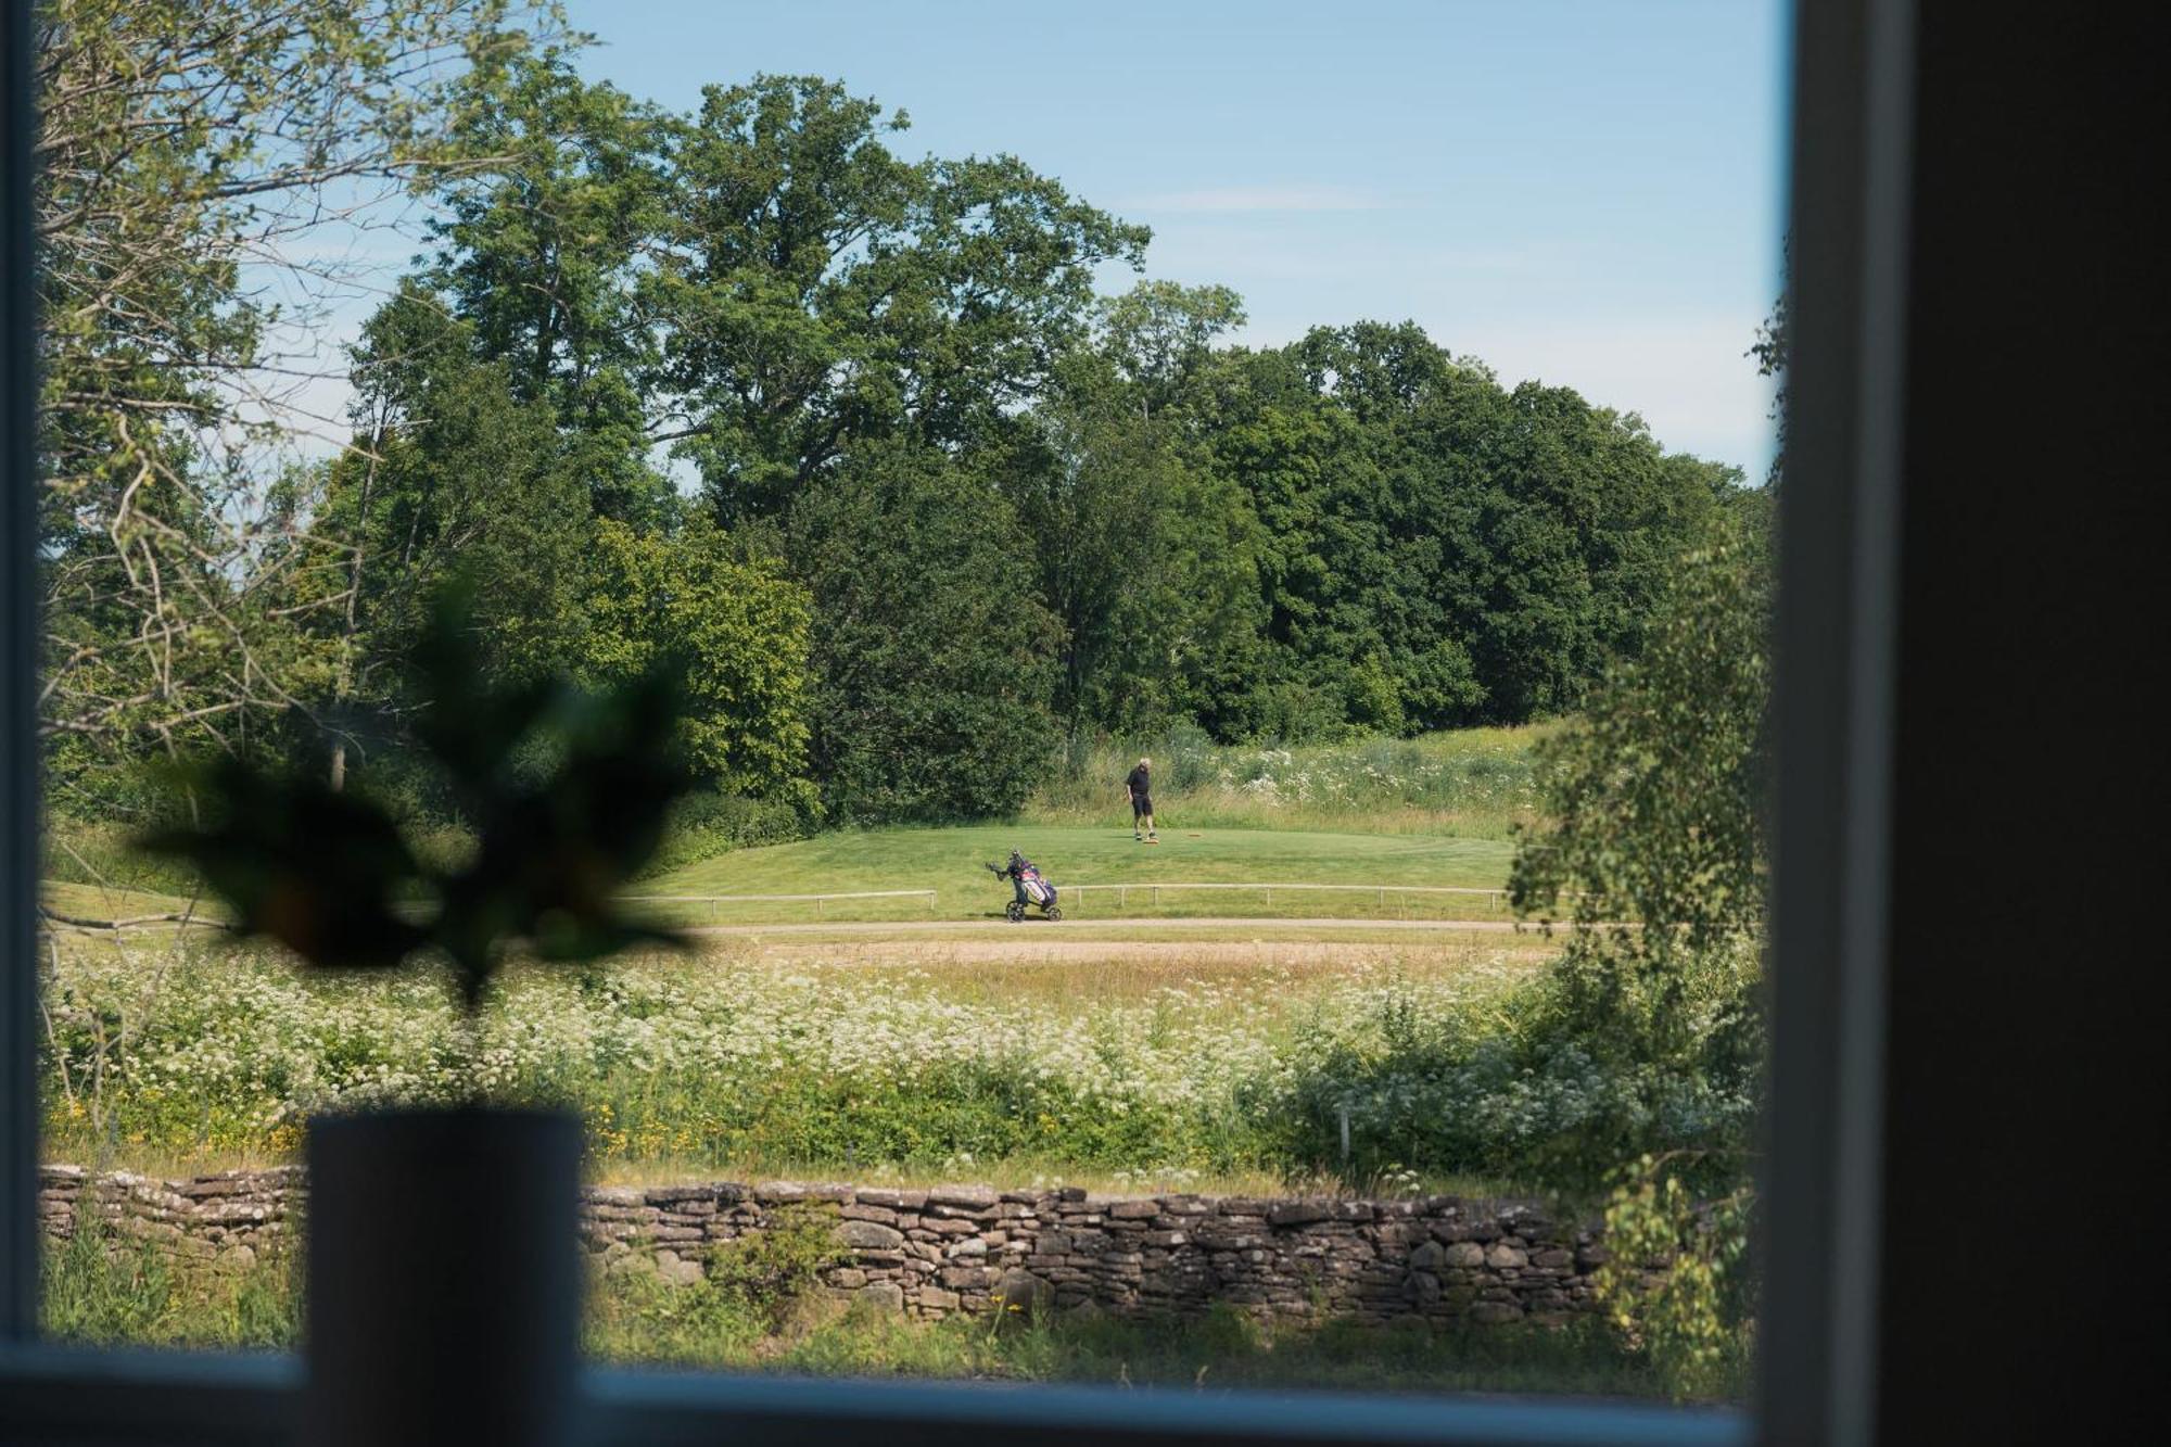
<path fill-rule="evenodd" d="M 449 967 L 473 1060 L 510 956 L 577 962 L 675 939 L 627 921 L 617 893 L 686 782 L 677 682 L 493 689 L 458 595 L 412 663 L 415 737 L 475 834 L 465 863 L 419 860 L 367 797 L 239 760 L 193 773 L 202 823 L 143 845 L 195 865 L 241 932 L 310 969 Z M 478 1084 L 452 1106 L 310 1121 L 308 1440 L 567 1440 L 580 1149 L 573 1115 L 491 1106 Z"/>

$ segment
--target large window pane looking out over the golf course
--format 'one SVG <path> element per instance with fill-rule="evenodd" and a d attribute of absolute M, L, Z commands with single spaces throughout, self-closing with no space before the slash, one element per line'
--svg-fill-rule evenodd
<path fill-rule="evenodd" d="M 46 4 L 46 1330 L 1739 1399 L 1785 20 Z"/>

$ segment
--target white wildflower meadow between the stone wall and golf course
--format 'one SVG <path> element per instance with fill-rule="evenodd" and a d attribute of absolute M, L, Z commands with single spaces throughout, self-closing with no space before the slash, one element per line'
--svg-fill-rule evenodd
<path fill-rule="evenodd" d="M 46 986 L 48 1156 L 271 1160 L 310 1112 L 480 1086 L 580 1110 L 606 1175 L 1500 1180 L 1604 1091 L 1522 1069 L 1544 958 L 1531 936 L 1294 962 L 658 954 L 519 967 L 471 1047 L 426 969 L 323 980 L 200 936 L 78 936 Z"/>

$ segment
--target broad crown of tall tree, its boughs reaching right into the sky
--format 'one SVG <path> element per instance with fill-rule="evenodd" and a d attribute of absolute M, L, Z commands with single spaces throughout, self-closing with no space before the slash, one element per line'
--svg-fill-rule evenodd
<path fill-rule="evenodd" d="M 812 76 L 710 87 L 669 126 L 651 385 L 725 521 L 773 517 L 855 441 L 955 445 L 1031 400 L 1092 272 L 1146 230 L 1016 156 L 905 163 L 907 126 Z"/>

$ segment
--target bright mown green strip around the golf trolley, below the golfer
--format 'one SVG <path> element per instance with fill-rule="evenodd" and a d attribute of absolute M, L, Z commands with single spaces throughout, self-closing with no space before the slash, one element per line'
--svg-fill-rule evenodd
<path fill-rule="evenodd" d="M 823 919 L 992 919 L 1010 886 L 981 869 L 1020 850 L 1059 889 L 1070 919 L 1155 915 L 1229 917 L 1472 917 L 1500 919 L 1485 895 L 1396 895 L 1331 891 L 1164 891 L 1155 884 L 1418 884 L 1500 889 L 1513 845 L 1444 834 L 1333 834 L 1294 830 L 1168 828 L 1159 845 L 1131 841 L 1127 823 L 970 826 L 838 832 L 801 843 L 721 854 L 640 886 L 643 895 L 812 895 L 931 889 L 925 899 L 855 899 L 821 906 Z M 1116 884 L 1079 891 L 1081 884 Z M 814 904 L 732 902 L 671 908 L 684 923 L 812 921 Z"/>

